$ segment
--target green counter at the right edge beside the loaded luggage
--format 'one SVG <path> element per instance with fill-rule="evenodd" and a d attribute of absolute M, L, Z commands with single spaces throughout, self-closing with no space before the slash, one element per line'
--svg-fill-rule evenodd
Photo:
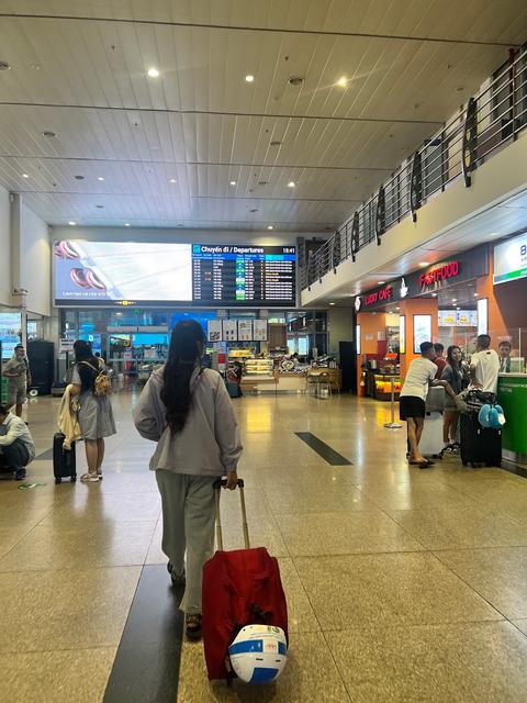
<path fill-rule="evenodd" d="M 527 461 L 527 373 L 500 373 L 497 402 L 505 413 L 503 458 Z"/>

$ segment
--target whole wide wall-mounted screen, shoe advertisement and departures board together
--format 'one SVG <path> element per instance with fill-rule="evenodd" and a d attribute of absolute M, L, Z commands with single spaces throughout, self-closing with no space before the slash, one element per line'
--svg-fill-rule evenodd
<path fill-rule="evenodd" d="M 294 246 L 61 241 L 56 305 L 295 304 Z"/>

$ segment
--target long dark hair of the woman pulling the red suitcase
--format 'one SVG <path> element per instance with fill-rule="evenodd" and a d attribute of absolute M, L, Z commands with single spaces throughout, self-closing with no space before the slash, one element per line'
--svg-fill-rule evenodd
<path fill-rule="evenodd" d="M 190 379 L 203 354 L 205 334 L 195 320 L 182 320 L 172 330 L 168 361 L 162 375 L 161 400 L 167 409 L 167 423 L 172 432 L 181 432 L 192 402 Z"/>

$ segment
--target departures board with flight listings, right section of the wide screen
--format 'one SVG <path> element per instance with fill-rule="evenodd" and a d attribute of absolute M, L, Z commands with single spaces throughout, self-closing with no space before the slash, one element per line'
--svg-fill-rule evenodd
<path fill-rule="evenodd" d="M 294 305 L 294 246 L 192 245 L 192 299 L 206 305 Z"/>

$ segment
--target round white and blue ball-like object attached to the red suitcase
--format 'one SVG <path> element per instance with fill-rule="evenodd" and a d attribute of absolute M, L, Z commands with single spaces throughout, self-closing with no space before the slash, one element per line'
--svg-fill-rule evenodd
<path fill-rule="evenodd" d="M 246 625 L 228 648 L 237 677 L 246 683 L 271 683 L 282 673 L 288 658 L 283 629 L 269 625 Z"/>

